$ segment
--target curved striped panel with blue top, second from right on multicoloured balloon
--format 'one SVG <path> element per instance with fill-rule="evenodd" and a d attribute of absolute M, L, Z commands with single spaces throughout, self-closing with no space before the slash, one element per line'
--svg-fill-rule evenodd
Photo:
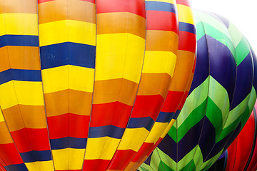
<path fill-rule="evenodd" d="M 143 145 L 149 130 L 153 128 L 168 93 L 176 64 L 176 3 L 146 1 L 146 19 L 146 53 L 138 94 L 124 136 L 116 150 L 116 158 L 109 165 L 109 170 L 133 170 L 137 165 L 129 162 Z M 168 123 L 160 123 L 157 127 L 162 129 L 154 128 L 152 138 L 161 136 L 167 126 Z M 127 156 L 126 160 L 121 158 L 124 155 Z"/>

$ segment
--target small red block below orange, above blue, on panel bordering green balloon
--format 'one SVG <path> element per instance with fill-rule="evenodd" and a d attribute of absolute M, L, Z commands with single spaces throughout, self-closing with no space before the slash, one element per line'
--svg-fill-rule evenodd
<path fill-rule="evenodd" d="M 181 92 L 169 90 L 161 111 L 166 113 L 176 112 L 176 109 L 178 108 L 178 105 L 183 98 L 183 94 L 183 91 Z"/>

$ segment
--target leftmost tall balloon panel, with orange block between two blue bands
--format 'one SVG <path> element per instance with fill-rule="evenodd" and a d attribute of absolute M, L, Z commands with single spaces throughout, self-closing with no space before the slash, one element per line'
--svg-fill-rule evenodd
<path fill-rule="evenodd" d="M 11 133 L 11 138 L 5 133 L 8 142 L 2 145 L 2 155 L 13 153 L 6 169 L 54 170 L 41 82 L 37 3 L 1 1 L 0 11 L 0 105 Z"/>

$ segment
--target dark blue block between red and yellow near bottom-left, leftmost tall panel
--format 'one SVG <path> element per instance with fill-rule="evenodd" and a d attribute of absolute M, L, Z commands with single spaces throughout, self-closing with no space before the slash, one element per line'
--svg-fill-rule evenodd
<path fill-rule="evenodd" d="M 51 160 L 51 151 L 29 151 L 21 152 L 21 158 L 24 162 L 49 161 Z"/>

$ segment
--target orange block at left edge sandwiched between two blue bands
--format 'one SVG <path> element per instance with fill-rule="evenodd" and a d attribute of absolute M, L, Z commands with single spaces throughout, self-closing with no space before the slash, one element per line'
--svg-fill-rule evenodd
<path fill-rule="evenodd" d="M 40 70 L 39 47 L 4 46 L 0 48 L 0 72 L 10 68 Z"/>

